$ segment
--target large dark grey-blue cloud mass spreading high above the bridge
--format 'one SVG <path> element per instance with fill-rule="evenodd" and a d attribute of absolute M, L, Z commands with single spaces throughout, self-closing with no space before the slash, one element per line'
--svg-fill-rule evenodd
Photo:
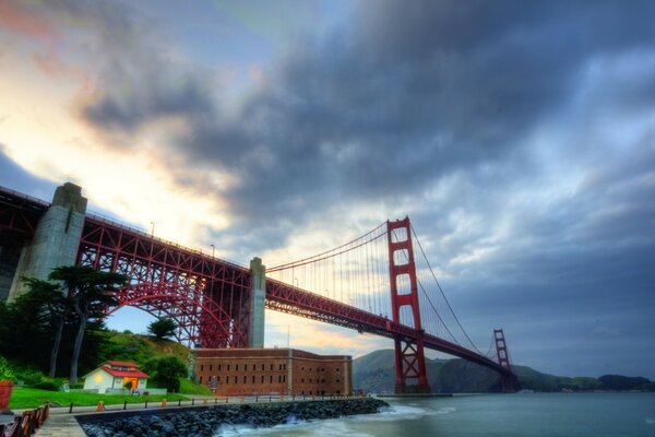
<path fill-rule="evenodd" d="M 393 203 L 462 169 L 474 177 L 484 165 L 497 174 L 511 165 L 538 170 L 525 155 L 529 135 L 567 107 L 590 62 L 647 50 L 652 8 L 362 5 L 357 25 L 294 47 L 236 108 L 222 106 L 206 75 L 166 59 L 152 42 L 109 39 L 116 57 L 103 94 L 82 114 L 129 134 L 180 117 L 186 129 L 167 146 L 188 165 L 231 175 L 217 194 L 235 217 L 246 226 L 264 215 L 309 221 L 334 202 Z M 641 96 L 639 83 L 650 80 L 639 79 L 632 94 Z"/>

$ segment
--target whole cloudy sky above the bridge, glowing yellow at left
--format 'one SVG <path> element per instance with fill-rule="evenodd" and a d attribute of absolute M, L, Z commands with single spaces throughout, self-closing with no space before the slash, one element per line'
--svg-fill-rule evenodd
<path fill-rule="evenodd" d="M 655 379 L 653 16 L 9 1 L 0 185 L 48 199 L 74 180 L 94 209 L 242 263 L 408 214 L 478 344 L 502 326 L 519 364 Z"/>

